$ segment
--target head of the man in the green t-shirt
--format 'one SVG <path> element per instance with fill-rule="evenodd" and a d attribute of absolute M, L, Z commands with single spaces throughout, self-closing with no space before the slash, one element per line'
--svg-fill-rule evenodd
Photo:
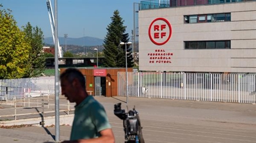
<path fill-rule="evenodd" d="M 61 93 L 70 102 L 81 102 L 81 91 L 85 91 L 85 79 L 79 70 L 68 68 L 60 75 Z M 83 93 L 83 92 L 82 92 Z M 85 92 L 86 93 L 86 92 Z"/>

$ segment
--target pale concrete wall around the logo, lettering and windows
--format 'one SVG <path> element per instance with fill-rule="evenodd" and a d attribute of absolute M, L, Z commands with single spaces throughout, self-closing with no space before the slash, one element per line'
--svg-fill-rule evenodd
<path fill-rule="evenodd" d="M 231 13 L 231 22 L 184 24 L 184 15 Z M 164 18 L 172 36 L 164 45 L 148 34 Z M 140 70 L 173 72 L 256 72 L 256 2 L 184 6 L 139 11 Z M 231 40 L 231 49 L 184 49 L 184 41 Z M 161 42 L 161 41 L 160 41 Z M 150 54 L 172 53 L 172 63 L 150 63 Z M 151 56 L 152 57 L 152 56 Z"/>

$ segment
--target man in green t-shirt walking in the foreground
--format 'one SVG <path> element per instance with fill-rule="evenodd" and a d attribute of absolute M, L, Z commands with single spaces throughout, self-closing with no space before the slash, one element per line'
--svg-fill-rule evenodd
<path fill-rule="evenodd" d="M 61 93 L 76 103 L 70 140 L 63 143 L 115 142 L 106 111 L 86 92 L 83 74 L 75 68 L 68 68 L 61 73 L 60 80 Z"/>

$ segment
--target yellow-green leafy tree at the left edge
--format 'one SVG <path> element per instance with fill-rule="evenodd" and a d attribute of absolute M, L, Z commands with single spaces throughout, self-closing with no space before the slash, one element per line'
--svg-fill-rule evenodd
<path fill-rule="evenodd" d="M 11 10 L 0 4 L 0 79 L 22 78 L 29 68 L 29 44 Z"/>

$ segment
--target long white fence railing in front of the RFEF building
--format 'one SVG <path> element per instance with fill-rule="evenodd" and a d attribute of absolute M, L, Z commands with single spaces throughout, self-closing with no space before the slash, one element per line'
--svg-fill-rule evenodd
<path fill-rule="evenodd" d="M 256 76 L 221 73 L 118 72 L 118 96 L 255 103 Z"/>

